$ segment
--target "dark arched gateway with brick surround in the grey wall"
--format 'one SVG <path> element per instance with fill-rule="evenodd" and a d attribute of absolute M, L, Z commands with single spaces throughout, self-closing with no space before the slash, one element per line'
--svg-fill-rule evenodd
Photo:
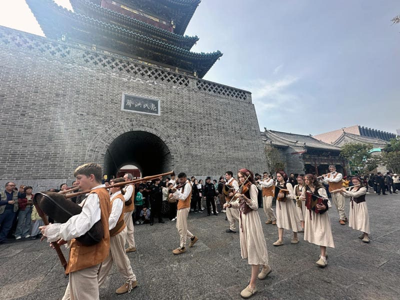
<path fill-rule="evenodd" d="M 182 159 L 178 141 L 162 124 L 126 119 L 106 126 L 88 144 L 86 161 L 101 161 L 108 177 L 125 164 L 134 164 L 143 176 L 172 169 Z"/>

